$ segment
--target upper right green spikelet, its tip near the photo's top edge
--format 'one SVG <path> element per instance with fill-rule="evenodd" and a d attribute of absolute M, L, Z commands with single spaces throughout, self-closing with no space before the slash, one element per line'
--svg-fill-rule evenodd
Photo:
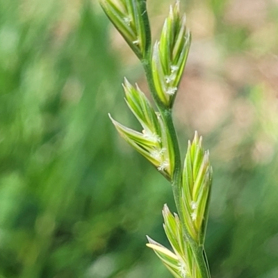
<path fill-rule="evenodd" d="M 186 65 L 191 36 L 186 29 L 186 16 L 179 14 L 179 2 L 165 19 L 161 38 L 154 44 L 152 74 L 158 98 L 172 107 L 181 75 Z"/>

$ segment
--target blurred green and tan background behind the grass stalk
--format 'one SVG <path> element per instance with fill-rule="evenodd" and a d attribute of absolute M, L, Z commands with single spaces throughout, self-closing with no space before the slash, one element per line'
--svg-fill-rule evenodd
<path fill-rule="evenodd" d="M 148 0 L 158 38 L 173 1 Z M 278 2 L 181 0 L 193 33 L 174 107 L 214 182 L 206 250 L 215 278 L 278 277 Z M 139 128 L 123 76 L 138 60 L 96 0 L 0 0 L 0 277 L 170 278 L 170 185 L 117 136 Z"/>

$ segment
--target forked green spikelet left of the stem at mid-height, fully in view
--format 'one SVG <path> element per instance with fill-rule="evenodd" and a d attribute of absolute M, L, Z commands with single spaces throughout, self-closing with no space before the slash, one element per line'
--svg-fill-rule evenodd
<path fill-rule="evenodd" d="M 163 176 L 170 180 L 172 177 L 172 159 L 170 158 L 172 148 L 167 142 L 167 134 L 161 117 L 155 113 L 152 104 L 138 85 L 134 88 L 127 79 L 124 79 L 123 87 L 126 104 L 140 122 L 142 132 L 129 129 L 115 121 L 111 115 L 109 117 L 124 140 L 145 156 Z"/>

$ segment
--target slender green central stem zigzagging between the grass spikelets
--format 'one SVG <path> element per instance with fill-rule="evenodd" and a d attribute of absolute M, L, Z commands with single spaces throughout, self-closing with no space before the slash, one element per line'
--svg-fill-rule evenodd
<path fill-rule="evenodd" d="M 180 215 L 180 220 L 183 229 L 184 240 L 190 243 L 190 246 L 193 250 L 195 260 L 201 272 L 202 278 L 210 278 L 208 265 L 206 262 L 206 255 L 204 253 L 204 247 L 198 246 L 197 243 L 190 237 L 188 231 L 186 230 L 186 224 L 183 220 L 182 207 L 181 207 L 181 154 L 179 151 L 179 142 L 177 138 L 176 129 L 174 128 L 174 123 L 172 120 L 172 109 L 168 108 L 163 104 L 161 99 L 159 99 L 154 86 L 154 80 L 152 78 L 152 65 L 149 58 L 141 60 L 141 63 L 144 67 L 145 74 L 147 77 L 147 83 L 149 85 L 149 90 L 151 92 L 152 98 L 154 99 L 156 106 L 158 107 L 161 117 L 163 117 L 163 122 L 166 125 L 167 131 L 170 133 L 170 144 L 173 147 L 174 152 L 174 172 L 172 174 L 172 190 L 174 194 L 174 202 L 177 206 L 177 213 Z"/>

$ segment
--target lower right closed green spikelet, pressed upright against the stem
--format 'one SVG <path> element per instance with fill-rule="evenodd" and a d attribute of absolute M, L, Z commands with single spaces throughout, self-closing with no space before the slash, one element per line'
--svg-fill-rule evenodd
<path fill-rule="evenodd" d="M 208 213 L 208 201 L 212 183 L 212 168 L 208 152 L 202 148 L 202 137 L 197 132 L 193 142 L 188 142 L 188 151 L 183 165 L 181 202 L 183 218 L 191 238 L 204 243 Z"/>

